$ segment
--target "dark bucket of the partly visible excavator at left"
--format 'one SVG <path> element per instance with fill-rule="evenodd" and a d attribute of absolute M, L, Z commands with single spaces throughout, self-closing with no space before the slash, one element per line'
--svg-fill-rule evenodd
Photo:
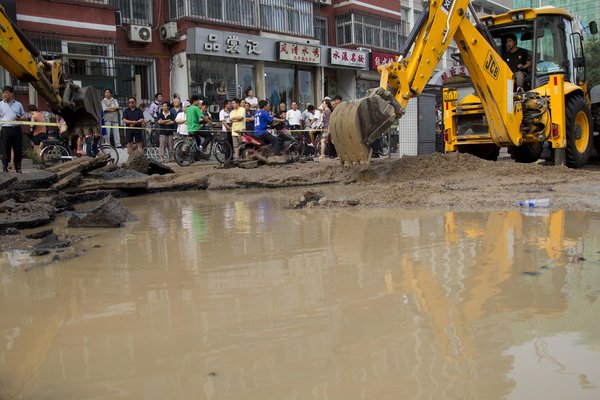
<path fill-rule="evenodd" d="M 56 110 L 67 124 L 69 135 L 80 133 L 100 133 L 100 97 L 92 87 L 81 88 L 72 82 L 67 82 L 61 107 Z"/>

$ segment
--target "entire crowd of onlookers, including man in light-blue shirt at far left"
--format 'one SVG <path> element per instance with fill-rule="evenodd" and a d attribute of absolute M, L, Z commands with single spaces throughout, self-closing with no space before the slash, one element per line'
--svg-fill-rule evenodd
<path fill-rule="evenodd" d="M 272 143 L 275 153 L 278 153 L 280 139 L 277 133 L 287 131 L 304 136 L 308 146 L 313 148 L 320 141 L 319 156 L 335 158 L 335 146 L 329 140 L 329 118 L 341 101 L 340 96 L 333 99 L 325 97 L 319 105 L 305 103 L 303 110 L 300 110 L 298 102 L 292 101 L 288 109 L 286 103 L 273 105 L 267 100 L 259 100 L 249 89 L 245 98 L 225 100 L 217 119 L 217 113 L 209 112 L 208 102 L 201 101 L 197 95 L 191 96 L 189 100 L 182 100 L 177 93 L 171 99 L 164 99 L 161 93 L 157 93 L 149 105 L 138 105 L 134 97 L 129 97 L 127 105 L 121 107 L 112 91 L 106 89 L 101 100 L 103 137 L 96 141 L 108 144 L 112 142 L 117 148 L 127 147 L 128 154 L 132 153 L 134 145 L 139 152 L 142 152 L 144 146 L 156 146 L 159 148 L 161 161 L 169 161 L 167 155 L 173 157 L 174 140 L 178 137 L 193 135 L 198 145 L 206 149 L 215 130 L 220 130 L 226 134 L 234 150 L 234 157 L 237 157 L 242 133 Z M 26 113 L 23 105 L 15 100 L 12 87 L 2 88 L 0 121 L 34 122 L 29 133 L 34 154 L 39 159 L 40 145 L 48 139 L 49 129 L 45 125 L 47 118 L 34 104 L 29 105 L 28 111 Z M 60 116 L 56 116 L 56 122 L 57 126 L 51 129 L 51 134 L 60 137 L 67 131 L 67 126 Z M 84 138 L 77 136 L 68 139 L 72 142 L 69 145 L 74 153 L 85 154 Z M 122 139 L 125 139 L 125 145 Z M 0 154 L 4 172 L 8 172 L 11 167 L 16 172 L 21 172 L 22 140 L 22 125 L 2 124 Z M 10 165 L 11 160 L 13 165 Z"/>

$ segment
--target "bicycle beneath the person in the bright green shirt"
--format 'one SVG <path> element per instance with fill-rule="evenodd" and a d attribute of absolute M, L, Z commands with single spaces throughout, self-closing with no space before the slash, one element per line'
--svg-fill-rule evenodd
<path fill-rule="evenodd" d="M 194 161 L 210 159 L 211 154 L 221 164 L 231 160 L 233 149 L 227 137 L 224 137 L 222 132 L 211 132 L 211 134 L 213 135 L 213 140 L 209 143 L 206 151 L 198 146 L 193 136 L 188 136 L 178 141 L 173 150 L 175 153 L 175 162 L 182 167 L 187 167 Z"/>

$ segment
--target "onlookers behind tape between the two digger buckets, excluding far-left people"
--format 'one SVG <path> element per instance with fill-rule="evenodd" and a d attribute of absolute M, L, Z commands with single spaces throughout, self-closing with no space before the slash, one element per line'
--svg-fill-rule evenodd
<path fill-rule="evenodd" d="M 157 145 L 160 160 L 168 161 L 167 154 L 173 156 L 176 138 L 193 135 L 198 146 L 206 149 L 213 140 L 214 131 L 220 130 L 227 135 L 234 157 L 237 157 L 242 133 L 272 143 L 277 154 L 279 140 L 276 132 L 287 130 L 305 135 L 309 146 L 316 146 L 315 141 L 320 140 L 320 157 L 328 155 L 335 158 L 335 147 L 328 138 L 329 117 L 341 101 L 340 96 L 333 100 L 326 97 L 318 107 L 306 103 L 302 111 L 296 101 L 291 103 L 289 110 L 286 103 L 280 103 L 273 109 L 267 100 L 259 101 L 250 89 L 243 99 L 225 100 L 217 119 L 217 113 L 209 112 L 209 103 L 201 101 L 197 95 L 182 101 L 177 93 L 170 100 L 165 100 L 161 93 L 157 93 L 149 106 L 143 103 L 138 106 L 135 98 L 130 97 L 119 121 L 119 104 L 112 97 L 110 89 L 106 89 L 102 99 L 105 141 L 110 143 L 112 139 L 116 147 L 123 147 L 117 127 L 122 123 L 126 126 L 125 141 L 129 153 L 134 142 Z M 141 151 L 142 146 L 138 145 L 137 148 Z"/>

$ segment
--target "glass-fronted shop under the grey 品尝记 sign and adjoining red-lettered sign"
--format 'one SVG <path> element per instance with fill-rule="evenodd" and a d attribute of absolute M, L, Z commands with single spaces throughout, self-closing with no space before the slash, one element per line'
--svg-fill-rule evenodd
<path fill-rule="evenodd" d="M 225 99 L 256 97 L 273 103 L 314 103 L 321 47 L 255 35 L 190 28 L 186 57 L 189 96 L 199 95 L 217 112 Z M 179 79 L 181 81 L 181 79 Z"/>

